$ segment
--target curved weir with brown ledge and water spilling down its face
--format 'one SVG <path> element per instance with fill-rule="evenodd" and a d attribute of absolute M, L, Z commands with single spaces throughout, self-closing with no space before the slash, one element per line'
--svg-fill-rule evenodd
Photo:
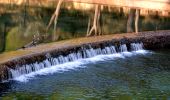
<path fill-rule="evenodd" d="M 0 80 L 35 74 L 44 68 L 92 58 L 146 49 L 169 48 L 170 31 L 151 31 L 86 37 L 0 54 Z M 5 58 L 6 57 L 6 58 Z M 4 58 L 4 59 L 3 59 Z"/>

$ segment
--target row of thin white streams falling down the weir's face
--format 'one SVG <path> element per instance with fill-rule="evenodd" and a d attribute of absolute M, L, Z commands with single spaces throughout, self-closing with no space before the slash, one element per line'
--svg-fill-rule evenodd
<path fill-rule="evenodd" d="M 131 43 L 131 44 L 120 44 L 114 46 L 112 43 L 109 43 L 106 47 L 92 47 L 91 45 L 82 46 L 76 51 L 73 51 L 70 54 L 62 54 L 55 56 L 54 54 L 46 54 L 46 59 L 42 62 L 35 62 L 25 65 L 15 65 L 12 68 L 8 68 L 8 79 L 17 79 L 18 77 L 27 76 L 32 77 L 41 73 L 42 69 L 50 68 L 53 66 L 61 65 L 68 62 L 74 62 L 77 60 L 92 58 L 99 55 L 124 55 L 123 53 L 135 53 L 137 51 L 143 50 L 143 43 Z M 128 52 L 130 51 L 130 52 Z M 67 68 L 55 68 L 54 70 L 65 71 L 72 69 L 68 66 Z M 40 71 L 40 72 L 38 72 Z M 37 72 L 37 73 L 36 73 Z M 45 72 L 49 73 L 49 72 Z M 23 80 L 23 79 L 22 79 Z"/>

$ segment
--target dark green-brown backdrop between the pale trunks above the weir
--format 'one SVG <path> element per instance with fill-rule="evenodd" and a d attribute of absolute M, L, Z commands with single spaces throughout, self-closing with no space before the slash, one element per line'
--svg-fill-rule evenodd
<path fill-rule="evenodd" d="M 64 4 L 61 8 L 56 32 L 53 32 L 53 27 L 51 27 L 46 33 L 45 29 L 55 7 L 2 5 L 0 7 L 2 9 L 0 14 L 0 52 L 21 48 L 30 43 L 34 35 L 40 37 L 39 43 L 86 36 L 88 20 L 93 16 L 94 9 L 82 11 L 66 7 L 68 6 Z M 101 30 L 105 35 L 126 32 L 128 11 L 119 10 L 119 8 L 111 8 L 111 11 L 108 11 L 105 8 L 101 12 Z M 139 31 L 168 30 L 170 29 L 169 22 L 169 17 L 154 14 L 141 15 Z"/>

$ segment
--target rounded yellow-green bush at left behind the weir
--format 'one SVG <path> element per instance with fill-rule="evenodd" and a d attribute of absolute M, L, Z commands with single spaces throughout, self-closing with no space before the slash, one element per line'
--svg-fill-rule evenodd
<path fill-rule="evenodd" d="M 34 35 L 45 35 L 45 26 L 40 22 L 32 22 L 26 27 L 16 26 L 12 28 L 6 37 L 6 51 L 16 50 L 33 40 Z"/>

